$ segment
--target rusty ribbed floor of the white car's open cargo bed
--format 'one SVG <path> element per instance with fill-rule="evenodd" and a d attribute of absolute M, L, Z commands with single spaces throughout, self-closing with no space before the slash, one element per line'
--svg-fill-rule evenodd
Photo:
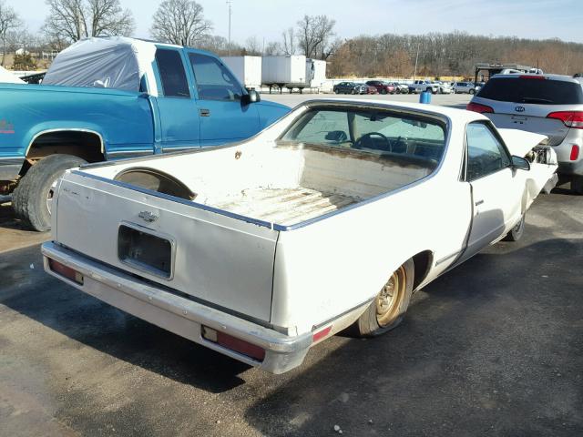
<path fill-rule="evenodd" d="M 252 219 L 292 225 L 358 201 L 358 198 L 303 187 L 252 188 L 243 190 L 236 199 L 221 202 L 215 207 Z"/>

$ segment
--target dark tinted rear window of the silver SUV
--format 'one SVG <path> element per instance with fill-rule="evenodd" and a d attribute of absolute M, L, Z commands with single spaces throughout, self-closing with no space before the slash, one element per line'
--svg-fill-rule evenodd
<path fill-rule="evenodd" d="M 578 105 L 583 103 L 583 88 L 562 80 L 493 77 L 477 97 L 534 105 Z"/>

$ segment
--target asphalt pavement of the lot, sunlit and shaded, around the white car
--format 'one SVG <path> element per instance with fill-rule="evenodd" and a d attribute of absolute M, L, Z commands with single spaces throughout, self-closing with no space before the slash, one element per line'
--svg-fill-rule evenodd
<path fill-rule="evenodd" d="M 582 230 L 583 197 L 540 195 L 399 328 L 271 375 L 49 277 L 0 207 L 0 435 L 583 435 Z"/>

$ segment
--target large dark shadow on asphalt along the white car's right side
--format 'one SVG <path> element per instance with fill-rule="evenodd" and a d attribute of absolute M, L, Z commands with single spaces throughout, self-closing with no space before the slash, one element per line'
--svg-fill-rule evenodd
<path fill-rule="evenodd" d="M 582 261 L 583 239 L 486 249 L 401 327 L 345 342 L 246 420 L 270 436 L 582 435 Z"/>

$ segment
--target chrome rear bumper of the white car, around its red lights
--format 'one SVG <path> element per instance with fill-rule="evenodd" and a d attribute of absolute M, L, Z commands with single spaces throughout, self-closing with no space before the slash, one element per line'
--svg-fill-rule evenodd
<path fill-rule="evenodd" d="M 147 281 L 137 279 L 94 259 L 88 259 L 54 242 L 44 243 L 42 252 L 46 271 L 78 290 L 165 330 L 265 371 L 282 373 L 299 366 L 312 346 L 311 332 L 296 337 L 284 335 L 260 324 L 153 286 Z M 76 270 L 83 276 L 83 284 L 66 279 L 53 271 L 48 259 L 54 259 Z M 247 355 L 206 340 L 201 335 L 202 326 L 260 347 L 265 351 L 265 358 L 263 361 L 256 361 Z"/>

